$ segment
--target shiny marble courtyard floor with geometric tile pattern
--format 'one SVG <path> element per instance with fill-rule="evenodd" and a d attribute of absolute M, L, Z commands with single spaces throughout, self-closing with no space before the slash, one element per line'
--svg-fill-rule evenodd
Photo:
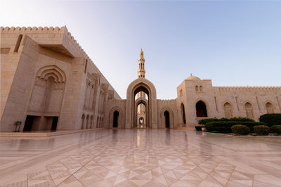
<path fill-rule="evenodd" d="M 0 186 L 281 186 L 281 136 L 102 129 L 0 138 Z"/>

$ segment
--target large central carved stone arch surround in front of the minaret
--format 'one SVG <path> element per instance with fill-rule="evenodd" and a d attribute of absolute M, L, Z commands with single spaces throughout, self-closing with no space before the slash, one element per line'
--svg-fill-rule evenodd
<path fill-rule="evenodd" d="M 129 84 L 126 96 L 126 128 L 134 125 L 134 103 L 136 91 L 147 91 L 148 93 L 148 126 L 157 128 L 157 93 L 155 86 L 148 79 L 138 78 Z"/>

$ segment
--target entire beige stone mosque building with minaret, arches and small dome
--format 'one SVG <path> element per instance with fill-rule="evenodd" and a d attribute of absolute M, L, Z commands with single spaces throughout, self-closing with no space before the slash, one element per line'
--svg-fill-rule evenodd
<path fill-rule="evenodd" d="M 190 75 L 177 98 L 157 99 L 145 78 L 120 98 L 66 27 L 1 27 L 0 131 L 192 127 L 208 117 L 249 117 L 281 112 L 281 87 L 212 86 Z M 140 123 L 141 122 L 141 123 Z"/>

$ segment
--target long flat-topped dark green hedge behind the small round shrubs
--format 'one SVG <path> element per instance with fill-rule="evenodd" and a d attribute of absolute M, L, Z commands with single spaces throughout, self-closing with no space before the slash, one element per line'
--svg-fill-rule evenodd
<path fill-rule="evenodd" d="M 266 125 L 263 122 L 208 122 L 205 127 L 208 131 L 232 132 L 231 127 L 235 124 L 246 125 L 250 131 L 254 131 L 256 125 Z"/>

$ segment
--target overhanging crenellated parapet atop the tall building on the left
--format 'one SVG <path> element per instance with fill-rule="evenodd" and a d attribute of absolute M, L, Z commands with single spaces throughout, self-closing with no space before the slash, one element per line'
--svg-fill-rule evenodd
<path fill-rule="evenodd" d="M 67 27 L 0 27 L 1 31 L 1 47 L 8 47 L 15 45 L 18 35 L 22 34 L 23 37 L 27 35 L 37 42 L 39 46 L 46 49 L 52 49 L 63 53 L 70 58 L 85 58 L 84 63 L 91 65 L 96 71 L 96 75 L 103 77 L 103 83 L 108 82 L 102 72 L 98 69 L 93 60 L 86 54 L 80 44 L 68 32 Z M 6 40 L 5 40 L 6 39 Z M 15 41 L 11 41 L 14 39 Z M 6 46 L 8 45 L 8 46 Z M 110 87 L 112 87 L 110 85 Z M 113 89 L 113 88 L 111 88 Z"/>

